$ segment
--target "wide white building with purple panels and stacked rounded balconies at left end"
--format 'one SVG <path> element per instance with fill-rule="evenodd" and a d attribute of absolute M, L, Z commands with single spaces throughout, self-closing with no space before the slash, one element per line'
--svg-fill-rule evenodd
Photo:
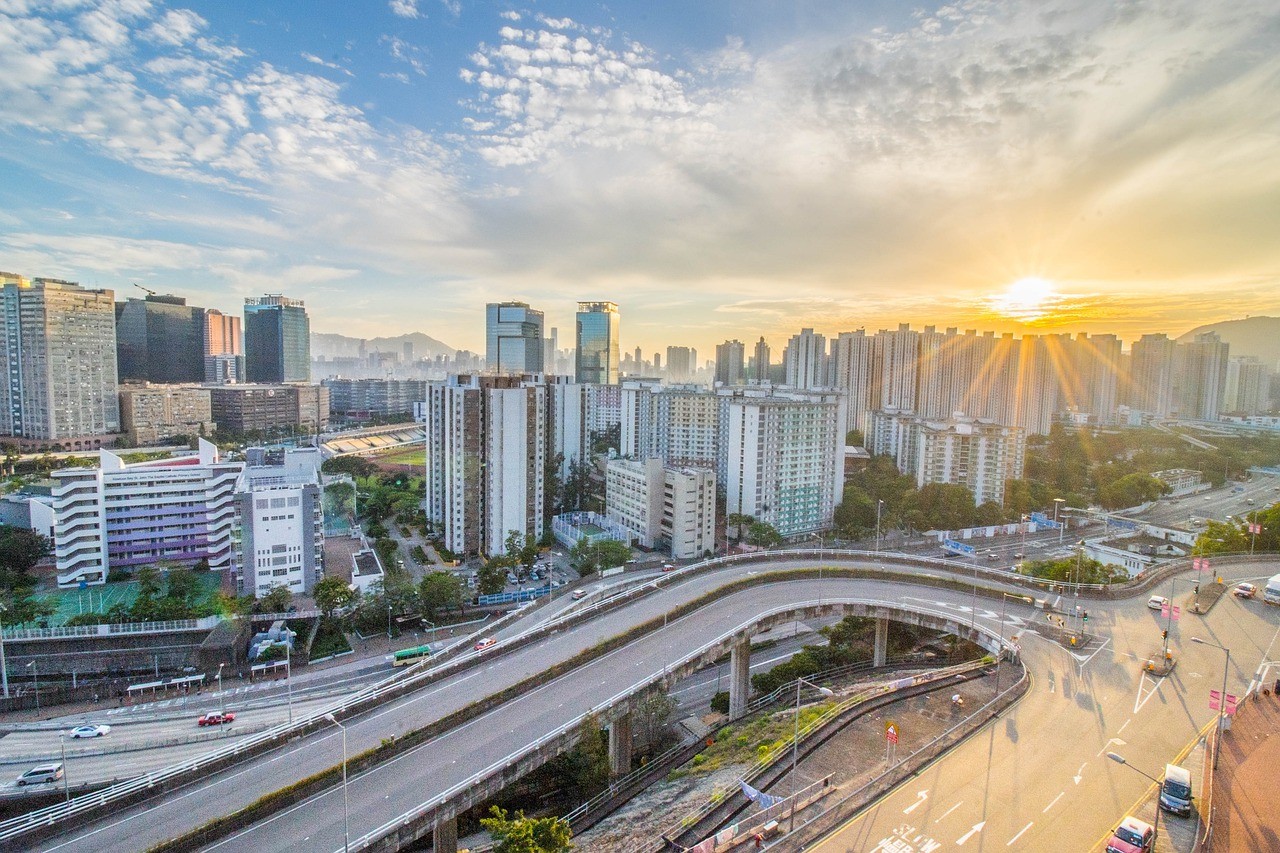
<path fill-rule="evenodd" d="M 234 567 L 243 464 L 219 461 L 204 439 L 195 456 L 125 464 L 99 451 L 99 460 L 52 474 L 59 587 L 102 584 L 113 569 L 160 561 Z"/>

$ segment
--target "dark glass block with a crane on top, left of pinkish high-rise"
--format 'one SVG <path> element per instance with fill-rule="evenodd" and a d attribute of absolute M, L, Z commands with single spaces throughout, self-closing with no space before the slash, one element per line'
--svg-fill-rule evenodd
<path fill-rule="evenodd" d="M 116 368 L 122 383 L 204 382 L 204 309 L 180 296 L 147 293 L 115 306 Z"/>

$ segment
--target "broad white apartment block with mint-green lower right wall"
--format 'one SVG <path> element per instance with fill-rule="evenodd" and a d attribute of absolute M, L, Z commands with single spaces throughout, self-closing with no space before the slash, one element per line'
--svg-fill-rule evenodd
<path fill-rule="evenodd" d="M 772 524 L 783 537 L 831 526 L 842 498 L 844 396 L 772 391 L 723 394 L 726 512 Z"/>

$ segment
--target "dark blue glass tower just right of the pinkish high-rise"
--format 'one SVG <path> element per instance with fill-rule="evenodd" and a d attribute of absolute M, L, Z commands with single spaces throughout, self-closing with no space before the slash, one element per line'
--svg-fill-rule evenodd
<path fill-rule="evenodd" d="M 279 293 L 244 300 L 244 374 L 250 382 L 311 380 L 311 321 L 302 300 Z"/>

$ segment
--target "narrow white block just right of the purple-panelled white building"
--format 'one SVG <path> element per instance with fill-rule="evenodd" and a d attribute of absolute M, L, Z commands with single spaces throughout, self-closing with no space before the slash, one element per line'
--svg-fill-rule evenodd
<path fill-rule="evenodd" d="M 314 447 L 251 456 L 237 494 L 242 594 L 274 587 L 311 592 L 324 576 L 320 451 Z"/>

